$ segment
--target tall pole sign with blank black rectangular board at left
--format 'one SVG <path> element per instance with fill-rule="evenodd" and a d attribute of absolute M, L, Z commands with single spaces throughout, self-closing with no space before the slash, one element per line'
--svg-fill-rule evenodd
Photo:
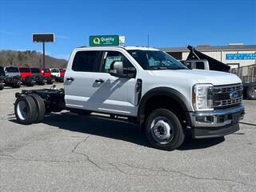
<path fill-rule="evenodd" d="M 33 42 L 42 42 L 42 68 L 43 76 L 45 76 L 46 68 L 46 54 L 45 54 L 45 43 L 54 42 L 54 34 L 32 34 Z"/>

